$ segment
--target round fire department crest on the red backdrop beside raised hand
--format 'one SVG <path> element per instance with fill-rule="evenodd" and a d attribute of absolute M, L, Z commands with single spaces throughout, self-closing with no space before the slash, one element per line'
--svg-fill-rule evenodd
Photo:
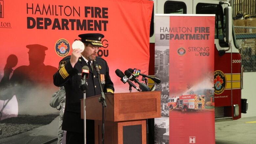
<path fill-rule="evenodd" d="M 61 57 L 68 55 L 70 51 L 69 42 L 65 39 L 59 39 L 55 44 L 55 51 Z"/>

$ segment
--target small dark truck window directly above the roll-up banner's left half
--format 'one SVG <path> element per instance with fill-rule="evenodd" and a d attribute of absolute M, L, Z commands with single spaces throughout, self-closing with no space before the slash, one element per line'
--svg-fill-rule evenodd
<path fill-rule="evenodd" d="M 168 14 L 186 14 L 187 7 L 183 2 L 166 1 L 164 3 L 163 12 Z"/>

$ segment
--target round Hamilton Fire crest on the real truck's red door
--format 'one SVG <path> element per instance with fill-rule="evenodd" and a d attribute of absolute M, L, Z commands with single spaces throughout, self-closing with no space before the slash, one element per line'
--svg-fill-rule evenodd
<path fill-rule="evenodd" d="M 226 76 L 222 71 L 214 72 L 214 93 L 221 94 L 226 88 Z"/>

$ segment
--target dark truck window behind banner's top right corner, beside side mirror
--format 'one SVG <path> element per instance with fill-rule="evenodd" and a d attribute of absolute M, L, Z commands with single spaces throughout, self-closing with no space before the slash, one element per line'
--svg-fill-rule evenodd
<path fill-rule="evenodd" d="M 215 39 L 219 39 L 221 47 L 228 47 L 225 43 L 225 18 L 222 7 L 218 4 L 198 3 L 196 14 L 215 14 Z"/>

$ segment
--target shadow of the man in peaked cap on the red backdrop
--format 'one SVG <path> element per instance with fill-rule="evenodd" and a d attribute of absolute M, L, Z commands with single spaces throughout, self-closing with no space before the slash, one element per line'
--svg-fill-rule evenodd
<path fill-rule="evenodd" d="M 46 107 L 51 99 L 49 95 L 56 91 L 56 87 L 53 87 L 53 73 L 57 68 L 44 64 L 47 47 L 39 44 L 26 47 L 29 49 L 28 66 L 22 65 L 13 70 L 19 61 L 22 62 L 22 58 L 17 58 L 14 54 L 7 58 L 0 82 L 0 100 L 4 100 L 1 117 L 14 95 L 18 102 L 18 114 L 38 115 L 52 111 Z"/>

